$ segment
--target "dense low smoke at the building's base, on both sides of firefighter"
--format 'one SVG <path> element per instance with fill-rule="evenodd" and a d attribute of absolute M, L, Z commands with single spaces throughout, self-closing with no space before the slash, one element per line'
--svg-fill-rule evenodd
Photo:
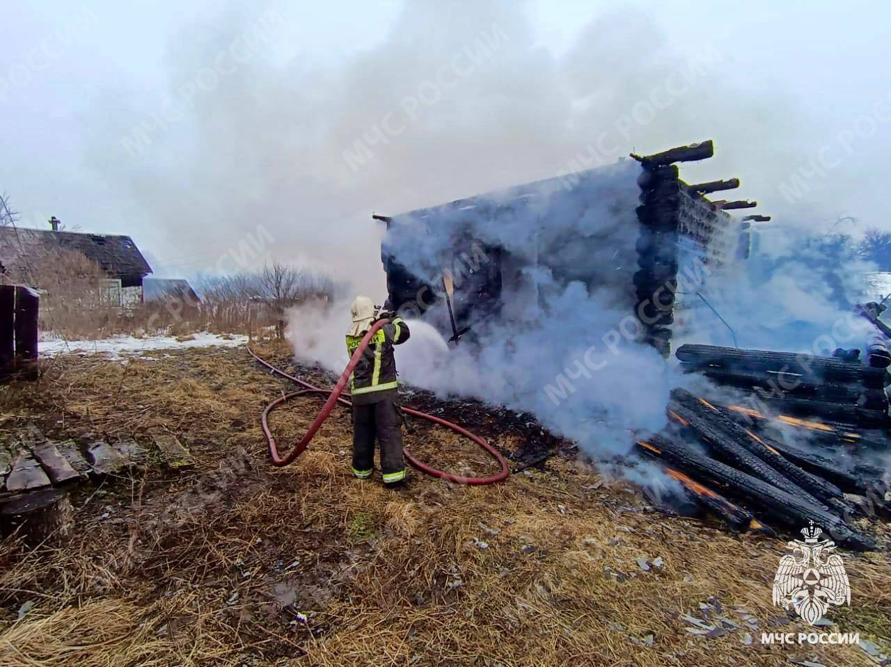
<path fill-rule="evenodd" d="M 555 295 L 540 320 L 519 329 L 507 322 L 490 327 L 479 346 L 449 346 L 428 323 L 409 321 L 412 338 L 397 348 L 396 366 L 409 385 L 529 412 L 593 458 L 608 457 L 626 451 L 633 429 L 665 425 L 668 392 L 681 381 L 649 346 L 621 339 L 618 354 L 603 346 L 610 319 L 617 323 L 626 314 L 604 309 L 574 283 Z M 347 302 L 324 313 L 293 309 L 295 356 L 339 373 L 347 364 L 348 323 Z"/>

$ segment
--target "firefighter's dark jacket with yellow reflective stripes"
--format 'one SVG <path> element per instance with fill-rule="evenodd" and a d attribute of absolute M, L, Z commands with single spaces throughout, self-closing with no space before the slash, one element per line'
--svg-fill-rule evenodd
<path fill-rule="evenodd" d="M 405 343 L 409 337 L 408 325 L 401 317 L 395 317 L 375 331 L 371 343 L 365 348 L 349 378 L 352 401 L 356 405 L 377 403 L 385 398 L 396 398 L 396 359 L 393 346 Z M 347 336 L 347 353 L 353 356 L 362 336 Z"/>

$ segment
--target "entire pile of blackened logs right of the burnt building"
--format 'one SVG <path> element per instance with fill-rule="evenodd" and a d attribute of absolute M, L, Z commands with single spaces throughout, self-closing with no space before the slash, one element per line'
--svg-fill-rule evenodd
<path fill-rule="evenodd" d="M 867 353 L 869 365 L 858 351 L 681 346 L 683 370 L 708 378 L 710 393 L 674 390 L 671 428 L 638 445 L 735 528 L 770 531 L 756 515 L 793 529 L 813 520 L 871 549 L 851 521 L 891 510 L 891 480 L 870 463 L 887 449 L 891 354 L 878 337 Z"/>

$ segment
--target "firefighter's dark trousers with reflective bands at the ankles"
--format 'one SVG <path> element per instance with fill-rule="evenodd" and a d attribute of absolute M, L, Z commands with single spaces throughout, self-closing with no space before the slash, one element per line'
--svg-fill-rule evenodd
<path fill-rule="evenodd" d="M 353 405 L 353 474 L 370 477 L 374 471 L 374 441 L 380 445 L 380 472 L 385 484 L 405 478 L 402 456 L 402 413 L 392 398 Z"/>

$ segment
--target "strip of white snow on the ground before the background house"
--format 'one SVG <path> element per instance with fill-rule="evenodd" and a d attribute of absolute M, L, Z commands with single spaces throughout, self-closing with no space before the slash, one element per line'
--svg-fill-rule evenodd
<path fill-rule="evenodd" d="M 177 340 L 173 336 L 113 336 L 101 340 L 41 340 L 38 344 L 40 356 L 56 354 L 103 354 L 111 359 L 124 360 L 138 357 L 143 352 L 154 350 L 182 350 L 186 347 L 237 347 L 248 342 L 247 336 L 222 337 L 201 331 L 192 334 L 192 340 Z M 187 337 L 191 338 L 191 337 Z"/>

